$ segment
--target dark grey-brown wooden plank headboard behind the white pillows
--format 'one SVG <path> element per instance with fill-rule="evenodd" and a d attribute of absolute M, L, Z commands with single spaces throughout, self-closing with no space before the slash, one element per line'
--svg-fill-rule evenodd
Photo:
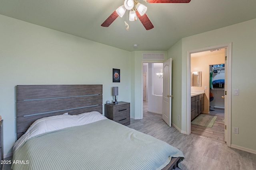
<path fill-rule="evenodd" d="M 102 113 L 102 85 L 17 85 L 17 139 L 42 117 Z"/>

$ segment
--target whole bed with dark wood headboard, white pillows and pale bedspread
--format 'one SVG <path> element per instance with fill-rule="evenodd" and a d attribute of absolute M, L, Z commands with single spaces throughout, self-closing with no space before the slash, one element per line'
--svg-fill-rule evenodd
<path fill-rule="evenodd" d="M 171 145 L 102 115 L 102 85 L 18 85 L 12 169 L 182 168 Z"/>

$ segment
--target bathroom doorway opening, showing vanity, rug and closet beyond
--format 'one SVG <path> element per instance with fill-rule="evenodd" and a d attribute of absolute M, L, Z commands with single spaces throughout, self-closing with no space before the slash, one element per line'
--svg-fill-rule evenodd
<path fill-rule="evenodd" d="M 204 93 L 200 98 L 193 97 L 193 101 L 198 98 L 194 102 L 191 99 L 191 133 L 225 143 L 224 98 L 222 98 L 225 82 L 225 49 L 192 53 L 190 68 L 192 75 L 200 72 L 199 82 L 195 83 L 195 77 L 191 76 L 191 92 Z M 194 93 L 193 96 L 195 96 Z M 210 120 L 213 121 L 208 124 Z"/>

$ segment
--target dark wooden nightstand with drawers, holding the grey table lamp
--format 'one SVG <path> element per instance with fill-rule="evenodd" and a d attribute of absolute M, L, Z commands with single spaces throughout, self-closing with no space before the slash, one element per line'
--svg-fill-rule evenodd
<path fill-rule="evenodd" d="M 116 105 L 105 104 L 105 116 L 117 123 L 130 125 L 130 103 L 118 102 Z"/>

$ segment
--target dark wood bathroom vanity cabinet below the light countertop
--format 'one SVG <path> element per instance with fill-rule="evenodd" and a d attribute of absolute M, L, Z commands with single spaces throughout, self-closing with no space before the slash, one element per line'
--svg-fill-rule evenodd
<path fill-rule="evenodd" d="M 191 121 L 204 110 L 204 94 L 191 97 Z"/>

